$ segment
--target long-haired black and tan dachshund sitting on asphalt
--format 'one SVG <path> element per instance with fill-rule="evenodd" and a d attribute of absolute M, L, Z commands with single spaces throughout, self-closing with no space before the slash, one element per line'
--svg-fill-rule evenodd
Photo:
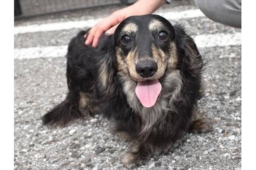
<path fill-rule="evenodd" d="M 126 167 L 145 164 L 186 132 L 208 132 L 211 120 L 197 109 L 204 62 L 183 26 L 158 15 L 131 16 L 97 48 L 81 31 L 68 46 L 66 100 L 43 116 L 43 124 L 66 125 L 102 114 L 132 147 Z"/>

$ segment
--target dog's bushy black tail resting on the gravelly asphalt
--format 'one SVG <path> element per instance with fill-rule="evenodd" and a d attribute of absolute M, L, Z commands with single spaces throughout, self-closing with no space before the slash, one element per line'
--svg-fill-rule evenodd
<path fill-rule="evenodd" d="M 71 120 L 83 118 L 84 115 L 79 110 L 79 100 L 79 95 L 69 92 L 65 101 L 43 116 L 43 124 L 64 126 Z"/>

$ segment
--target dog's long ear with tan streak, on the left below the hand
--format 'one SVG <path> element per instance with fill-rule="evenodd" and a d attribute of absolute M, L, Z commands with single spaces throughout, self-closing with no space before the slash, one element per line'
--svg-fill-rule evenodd
<path fill-rule="evenodd" d="M 102 46 L 96 62 L 96 92 L 97 96 L 109 100 L 116 94 L 117 87 L 117 59 L 113 36 L 103 37 Z"/>

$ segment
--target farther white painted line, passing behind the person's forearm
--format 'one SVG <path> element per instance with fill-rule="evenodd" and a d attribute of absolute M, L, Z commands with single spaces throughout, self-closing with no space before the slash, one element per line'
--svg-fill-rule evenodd
<path fill-rule="evenodd" d="M 160 15 L 168 20 L 180 20 L 186 18 L 196 18 L 204 16 L 199 9 L 184 10 L 181 12 L 156 12 L 155 14 Z M 47 32 L 47 31 L 59 31 L 59 30 L 70 30 L 70 29 L 84 29 L 94 26 L 102 18 L 89 19 L 85 21 L 68 21 L 48 24 L 34 24 L 27 26 L 16 26 L 14 27 L 14 34 L 24 33 L 35 33 L 35 32 Z"/>

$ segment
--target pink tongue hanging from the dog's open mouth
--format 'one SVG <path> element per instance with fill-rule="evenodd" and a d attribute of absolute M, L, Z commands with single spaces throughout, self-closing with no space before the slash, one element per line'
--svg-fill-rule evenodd
<path fill-rule="evenodd" d="M 135 93 L 144 107 L 152 107 L 157 102 L 157 97 L 162 90 L 158 80 L 139 81 Z"/>

